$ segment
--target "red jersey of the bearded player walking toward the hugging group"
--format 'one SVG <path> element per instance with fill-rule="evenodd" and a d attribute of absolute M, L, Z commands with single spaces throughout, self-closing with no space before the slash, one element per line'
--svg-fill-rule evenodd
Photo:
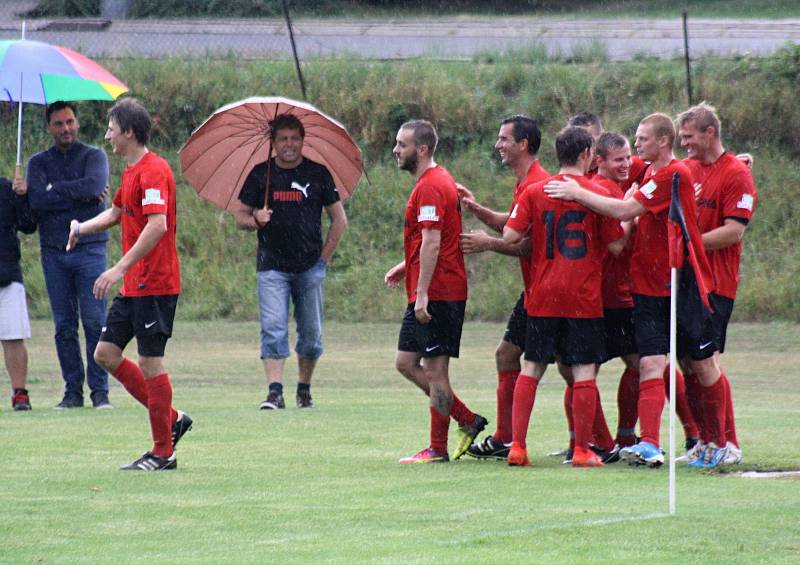
<path fill-rule="evenodd" d="M 462 231 L 461 203 L 453 177 L 438 165 L 422 173 L 406 205 L 403 247 L 409 303 L 417 300 L 423 229 L 439 230 L 442 238 L 428 288 L 428 299 L 466 300 L 467 272 L 464 269 L 464 254 L 458 244 Z"/>

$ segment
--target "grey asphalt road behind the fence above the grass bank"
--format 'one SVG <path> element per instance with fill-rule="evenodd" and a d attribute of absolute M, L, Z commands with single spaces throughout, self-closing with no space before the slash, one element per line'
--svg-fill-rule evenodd
<path fill-rule="evenodd" d="M 0 38 L 17 38 L 13 15 L 29 0 L 5 0 Z M 294 22 L 301 58 L 358 56 L 377 59 L 466 59 L 534 44 L 570 55 L 593 40 L 613 61 L 635 55 L 670 58 L 683 53 L 683 29 L 675 20 L 565 20 L 534 17 L 348 19 Z M 243 58 L 291 56 L 283 20 L 33 20 L 28 39 L 80 50 L 89 56 L 203 55 L 234 52 Z M 800 20 L 690 20 L 690 52 L 730 56 L 769 53 L 787 41 L 800 44 Z"/>

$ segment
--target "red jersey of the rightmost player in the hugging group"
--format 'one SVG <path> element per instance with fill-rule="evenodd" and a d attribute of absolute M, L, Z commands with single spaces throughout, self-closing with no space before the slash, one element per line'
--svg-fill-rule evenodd
<path fill-rule="evenodd" d="M 695 159 L 686 159 L 684 163 L 692 171 L 697 219 L 702 233 L 720 227 L 727 218 L 750 221 L 756 210 L 758 194 L 747 165 L 727 152 L 710 165 Z M 735 299 L 742 242 L 708 251 L 706 256 L 714 274 L 714 292 Z"/>

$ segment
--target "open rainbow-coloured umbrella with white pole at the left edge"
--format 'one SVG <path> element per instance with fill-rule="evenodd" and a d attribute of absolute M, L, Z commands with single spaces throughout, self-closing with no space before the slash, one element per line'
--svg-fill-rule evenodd
<path fill-rule="evenodd" d="M 24 32 L 23 32 L 24 34 Z M 22 165 L 22 103 L 114 100 L 128 91 L 103 67 L 66 47 L 27 39 L 0 41 L 0 93 L 19 102 L 17 166 Z"/>

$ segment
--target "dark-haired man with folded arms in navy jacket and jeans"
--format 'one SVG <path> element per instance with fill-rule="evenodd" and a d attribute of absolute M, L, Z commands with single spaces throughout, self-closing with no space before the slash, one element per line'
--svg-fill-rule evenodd
<path fill-rule="evenodd" d="M 73 104 L 54 102 L 45 115 L 55 143 L 28 161 L 27 179 L 14 179 L 14 188 L 27 184 L 30 206 L 39 221 L 42 270 L 64 379 L 64 398 L 56 408 L 83 406 L 84 380 L 94 407 L 111 408 L 108 374 L 93 358 L 105 322 L 106 301 L 93 296 L 92 285 L 106 270 L 108 234 L 81 238 L 77 249 L 65 250 L 70 220 L 88 220 L 106 208 L 108 158 L 102 149 L 78 141 L 80 124 Z M 79 316 L 86 337 L 86 370 L 78 337 Z"/>

